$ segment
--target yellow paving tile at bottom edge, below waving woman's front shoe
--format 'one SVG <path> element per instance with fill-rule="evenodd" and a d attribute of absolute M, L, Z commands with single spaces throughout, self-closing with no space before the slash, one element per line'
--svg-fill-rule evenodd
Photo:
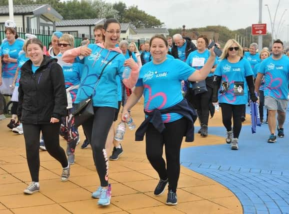
<path fill-rule="evenodd" d="M 142 209 L 133 209 L 133 210 L 129 210 L 129 213 L 131 214 L 147 214 L 147 213 L 183 214 L 183 212 L 175 209 L 174 207 L 170 207 L 168 205 L 154 206 L 154 207 L 148 207 L 148 208 L 142 208 Z"/>

